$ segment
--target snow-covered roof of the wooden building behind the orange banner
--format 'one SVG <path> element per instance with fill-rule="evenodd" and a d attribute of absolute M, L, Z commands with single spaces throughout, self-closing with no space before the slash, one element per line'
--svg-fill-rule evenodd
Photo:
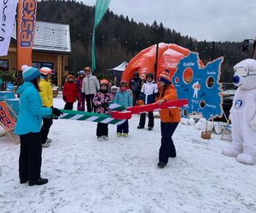
<path fill-rule="evenodd" d="M 71 52 L 69 25 L 37 20 L 35 32 L 33 50 L 64 54 Z M 16 24 L 12 37 L 16 39 Z"/>

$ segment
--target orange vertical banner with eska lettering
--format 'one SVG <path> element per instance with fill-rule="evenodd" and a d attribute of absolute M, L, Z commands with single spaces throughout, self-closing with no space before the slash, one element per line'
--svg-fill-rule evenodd
<path fill-rule="evenodd" d="M 19 0 L 17 20 L 17 70 L 32 66 L 32 46 L 36 28 L 37 0 Z"/>

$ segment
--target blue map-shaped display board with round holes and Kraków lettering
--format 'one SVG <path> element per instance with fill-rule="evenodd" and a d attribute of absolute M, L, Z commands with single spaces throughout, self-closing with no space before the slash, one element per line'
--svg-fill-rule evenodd
<path fill-rule="evenodd" d="M 220 57 L 199 66 L 197 53 L 190 53 L 180 60 L 172 81 L 177 89 L 178 99 L 187 98 L 189 106 L 182 108 L 182 116 L 201 113 L 204 118 L 222 116 L 222 92 L 219 83 L 221 65 L 224 58 Z"/>

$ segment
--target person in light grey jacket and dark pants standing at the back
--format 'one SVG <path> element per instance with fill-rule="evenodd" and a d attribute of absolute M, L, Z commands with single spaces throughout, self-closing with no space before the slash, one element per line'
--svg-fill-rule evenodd
<path fill-rule="evenodd" d="M 92 112 L 93 109 L 93 98 L 96 92 L 100 90 L 100 83 L 96 76 L 91 74 L 90 67 L 84 68 L 85 78 L 82 84 L 82 93 L 85 95 L 87 112 Z"/>

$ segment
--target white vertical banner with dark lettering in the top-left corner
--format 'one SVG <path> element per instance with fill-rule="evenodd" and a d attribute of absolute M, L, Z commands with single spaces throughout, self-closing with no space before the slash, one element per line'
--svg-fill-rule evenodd
<path fill-rule="evenodd" d="M 16 7 L 17 0 L 0 0 L 0 56 L 8 55 Z"/>

